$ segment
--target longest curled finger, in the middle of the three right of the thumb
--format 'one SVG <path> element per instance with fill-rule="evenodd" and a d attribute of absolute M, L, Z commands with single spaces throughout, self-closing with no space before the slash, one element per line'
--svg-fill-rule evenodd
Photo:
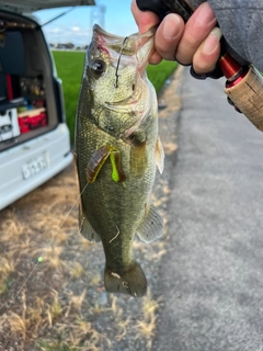
<path fill-rule="evenodd" d="M 216 23 L 217 20 L 208 2 L 202 3 L 185 24 L 184 33 L 178 45 L 176 59 L 184 65 L 191 64 L 195 52 Z"/>

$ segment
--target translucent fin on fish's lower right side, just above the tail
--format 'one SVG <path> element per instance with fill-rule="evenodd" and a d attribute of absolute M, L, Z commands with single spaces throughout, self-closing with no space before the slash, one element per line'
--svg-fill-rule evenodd
<path fill-rule="evenodd" d="M 159 239 L 163 233 L 163 220 L 157 207 L 149 203 L 146 206 L 145 216 L 136 233 L 145 242 L 151 242 Z"/>

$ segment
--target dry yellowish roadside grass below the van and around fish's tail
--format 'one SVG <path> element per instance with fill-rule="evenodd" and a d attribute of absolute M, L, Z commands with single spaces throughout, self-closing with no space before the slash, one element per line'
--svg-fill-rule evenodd
<path fill-rule="evenodd" d="M 130 330 L 151 343 L 153 299 L 137 303 L 135 324 L 119 297 L 104 304 L 88 294 L 100 296 L 104 286 L 87 253 L 103 252 L 78 234 L 77 206 L 67 216 L 76 199 L 71 167 L 0 213 L 0 350 L 114 350 L 112 335 L 118 343 Z M 138 241 L 135 249 L 148 249 L 149 259 L 162 251 Z"/>

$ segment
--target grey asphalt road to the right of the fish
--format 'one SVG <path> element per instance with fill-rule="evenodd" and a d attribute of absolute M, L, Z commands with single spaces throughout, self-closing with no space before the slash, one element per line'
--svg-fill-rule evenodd
<path fill-rule="evenodd" d="M 153 351 L 263 350 L 263 133 L 224 81 L 181 75 Z"/>

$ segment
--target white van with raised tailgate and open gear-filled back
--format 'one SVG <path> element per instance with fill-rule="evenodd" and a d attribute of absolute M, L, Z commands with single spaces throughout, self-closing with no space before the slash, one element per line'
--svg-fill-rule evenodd
<path fill-rule="evenodd" d="M 61 81 L 34 11 L 93 0 L 0 0 L 0 210 L 71 160 Z"/>

